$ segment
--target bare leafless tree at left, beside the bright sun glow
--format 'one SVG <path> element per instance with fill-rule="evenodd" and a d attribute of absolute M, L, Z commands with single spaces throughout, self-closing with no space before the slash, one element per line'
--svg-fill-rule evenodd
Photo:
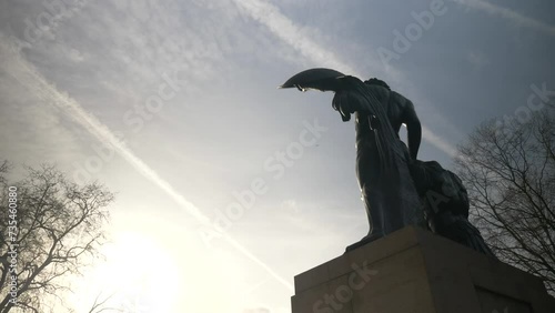
<path fill-rule="evenodd" d="M 0 166 L 0 313 L 52 311 L 46 299 L 63 303 L 64 279 L 105 242 L 113 194 L 97 183 L 71 183 L 48 165 L 9 185 L 8 169 Z"/>

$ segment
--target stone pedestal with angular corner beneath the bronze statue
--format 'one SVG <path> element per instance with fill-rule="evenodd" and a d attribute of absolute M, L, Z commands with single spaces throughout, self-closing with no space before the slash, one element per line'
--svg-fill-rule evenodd
<path fill-rule="evenodd" d="M 293 313 L 554 313 L 542 281 L 417 228 L 295 276 Z"/>

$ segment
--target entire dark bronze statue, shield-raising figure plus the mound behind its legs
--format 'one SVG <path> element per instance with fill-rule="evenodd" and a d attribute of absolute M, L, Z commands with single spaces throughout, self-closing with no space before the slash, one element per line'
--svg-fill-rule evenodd
<path fill-rule="evenodd" d="M 363 82 L 330 69 L 300 72 L 281 85 L 293 87 L 334 91 L 332 108 L 342 120 L 355 114 L 356 178 L 370 231 L 346 251 L 418 225 L 493 256 L 467 220 L 470 205 L 461 180 L 435 161 L 416 159 L 422 128 L 408 99 L 379 79 Z M 398 137 L 402 124 L 407 128 L 408 148 Z"/>

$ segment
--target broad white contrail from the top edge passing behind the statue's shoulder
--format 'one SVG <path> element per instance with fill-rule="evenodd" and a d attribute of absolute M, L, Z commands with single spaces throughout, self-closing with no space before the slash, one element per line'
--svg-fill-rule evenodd
<path fill-rule="evenodd" d="M 254 20 L 266 26 L 278 38 L 290 44 L 306 59 L 312 60 L 312 62 L 319 67 L 329 67 L 344 73 L 364 77 L 346 62 L 342 61 L 332 51 L 329 51 L 311 38 L 304 36 L 302 28 L 282 14 L 278 7 L 260 0 L 235 0 L 235 3 L 240 9 L 245 10 Z M 394 72 L 394 75 L 400 77 L 397 72 Z M 456 149 L 440 137 L 434 135 L 426 127 L 423 127 L 423 137 L 426 141 L 444 151 L 450 156 L 455 155 Z"/>

